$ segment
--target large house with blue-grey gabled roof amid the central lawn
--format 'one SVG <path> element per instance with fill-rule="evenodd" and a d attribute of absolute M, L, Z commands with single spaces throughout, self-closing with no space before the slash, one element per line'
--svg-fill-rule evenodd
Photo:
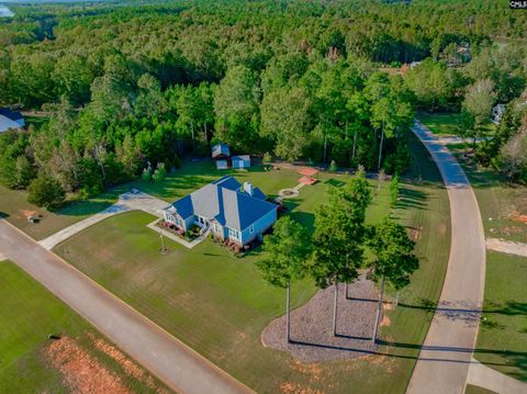
<path fill-rule="evenodd" d="M 164 216 L 182 230 L 209 227 L 216 237 L 244 246 L 274 224 L 277 210 L 259 188 L 226 176 L 176 201 Z"/>

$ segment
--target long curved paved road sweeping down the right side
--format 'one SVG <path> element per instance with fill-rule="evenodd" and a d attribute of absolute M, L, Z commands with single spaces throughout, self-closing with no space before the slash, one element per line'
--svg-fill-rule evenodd
<path fill-rule="evenodd" d="M 483 225 L 475 195 L 456 158 L 421 123 L 413 131 L 447 185 L 452 234 L 441 296 L 407 393 L 464 393 L 483 304 Z"/>

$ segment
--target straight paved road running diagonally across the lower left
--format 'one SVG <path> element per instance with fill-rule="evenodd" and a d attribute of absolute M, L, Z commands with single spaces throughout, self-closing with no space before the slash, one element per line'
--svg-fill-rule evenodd
<path fill-rule="evenodd" d="M 251 392 L 4 219 L 0 250 L 175 391 Z"/>

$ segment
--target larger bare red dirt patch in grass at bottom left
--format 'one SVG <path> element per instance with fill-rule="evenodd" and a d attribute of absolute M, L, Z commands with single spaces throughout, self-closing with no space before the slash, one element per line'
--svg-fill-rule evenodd
<path fill-rule="evenodd" d="M 105 369 L 74 339 L 63 337 L 49 344 L 44 353 L 74 393 L 127 394 L 130 391 L 113 372 Z"/>

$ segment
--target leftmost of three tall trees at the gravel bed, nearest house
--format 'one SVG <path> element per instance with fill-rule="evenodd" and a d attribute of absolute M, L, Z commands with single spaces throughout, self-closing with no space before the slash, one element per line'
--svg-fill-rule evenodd
<path fill-rule="evenodd" d="M 264 258 L 256 261 L 262 278 L 272 285 L 287 288 L 287 338 L 291 341 L 290 295 L 291 281 L 302 279 L 309 272 L 311 254 L 310 235 L 305 228 L 283 216 L 277 221 L 273 232 L 264 237 Z"/>

